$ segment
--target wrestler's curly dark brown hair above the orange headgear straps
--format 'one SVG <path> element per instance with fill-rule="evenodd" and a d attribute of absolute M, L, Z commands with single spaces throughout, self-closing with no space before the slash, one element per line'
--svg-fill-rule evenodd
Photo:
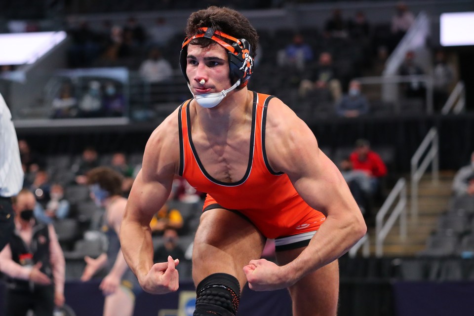
<path fill-rule="evenodd" d="M 258 34 L 248 19 L 240 12 L 228 7 L 209 6 L 207 9 L 192 13 L 188 18 L 186 25 L 186 35 L 188 37 L 201 33 L 199 28 L 208 27 L 216 31 L 224 32 L 227 35 L 237 39 L 245 39 L 250 43 L 252 58 L 255 58 L 258 44 Z M 223 39 L 229 43 L 229 40 Z M 191 41 L 194 45 L 206 47 L 213 40 L 206 38 L 197 38 Z"/>

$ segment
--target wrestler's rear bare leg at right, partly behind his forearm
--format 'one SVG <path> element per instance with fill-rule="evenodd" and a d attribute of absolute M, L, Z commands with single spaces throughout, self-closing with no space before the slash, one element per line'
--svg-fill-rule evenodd
<path fill-rule="evenodd" d="M 303 248 L 276 252 L 279 265 L 293 261 Z M 288 288 L 293 302 L 293 316 L 335 316 L 339 296 L 337 260 L 304 276 Z"/>

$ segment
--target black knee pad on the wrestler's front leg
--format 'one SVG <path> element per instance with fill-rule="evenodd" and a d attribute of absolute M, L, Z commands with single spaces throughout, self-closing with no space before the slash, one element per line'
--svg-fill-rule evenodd
<path fill-rule="evenodd" d="M 197 284 L 196 310 L 193 316 L 235 316 L 240 299 L 236 277 L 215 273 Z"/>

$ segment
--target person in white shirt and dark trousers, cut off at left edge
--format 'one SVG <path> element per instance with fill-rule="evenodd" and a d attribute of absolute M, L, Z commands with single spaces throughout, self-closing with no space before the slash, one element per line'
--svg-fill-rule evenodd
<path fill-rule="evenodd" d="M 18 139 L 11 113 L 0 94 L 0 251 L 14 230 L 11 199 L 23 187 Z"/>

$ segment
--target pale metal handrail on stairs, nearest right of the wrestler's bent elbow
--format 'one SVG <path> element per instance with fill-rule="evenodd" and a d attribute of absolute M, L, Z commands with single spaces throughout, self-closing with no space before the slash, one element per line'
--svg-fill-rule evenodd
<path fill-rule="evenodd" d="M 398 197 L 398 199 L 397 199 Z M 395 201 L 397 200 L 396 204 Z M 395 205 L 394 205 L 395 204 Z M 390 192 L 384 204 L 380 208 L 375 217 L 375 255 L 382 257 L 383 243 L 385 237 L 395 225 L 395 221 L 400 218 L 400 237 L 406 238 L 406 180 L 404 178 L 398 179 L 395 187 Z M 393 208 L 392 208 L 393 207 Z M 384 223 L 385 215 L 392 209 L 389 218 Z"/>

